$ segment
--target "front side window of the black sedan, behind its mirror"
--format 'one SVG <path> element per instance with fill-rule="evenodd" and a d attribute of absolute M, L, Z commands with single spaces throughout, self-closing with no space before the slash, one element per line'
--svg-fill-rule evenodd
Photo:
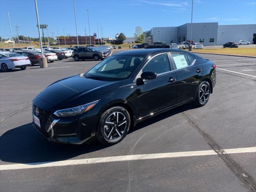
<path fill-rule="evenodd" d="M 161 54 L 152 58 L 142 69 L 142 72 L 145 71 L 152 71 L 156 74 L 170 71 L 170 63 L 167 54 Z"/>

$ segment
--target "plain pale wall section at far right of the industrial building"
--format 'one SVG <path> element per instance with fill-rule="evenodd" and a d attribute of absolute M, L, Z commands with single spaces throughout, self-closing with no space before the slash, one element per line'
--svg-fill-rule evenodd
<path fill-rule="evenodd" d="M 219 25 L 217 45 L 223 45 L 229 41 L 237 42 L 239 40 L 246 40 L 252 44 L 254 33 L 256 33 L 256 24 Z"/>

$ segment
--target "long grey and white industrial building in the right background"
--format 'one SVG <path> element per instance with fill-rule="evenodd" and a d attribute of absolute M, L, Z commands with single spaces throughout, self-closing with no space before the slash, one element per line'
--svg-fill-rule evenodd
<path fill-rule="evenodd" d="M 191 38 L 192 28 L 192 38 Z M 193 40 L 203 45 L 222 45 L 226 42 L 246 40 L 256 44 L 256 24 L 218 25 L 218 22 L 187 23 L 178 27 L 154 27 L 145 32 L 145 41 L 180 43 Z"/>

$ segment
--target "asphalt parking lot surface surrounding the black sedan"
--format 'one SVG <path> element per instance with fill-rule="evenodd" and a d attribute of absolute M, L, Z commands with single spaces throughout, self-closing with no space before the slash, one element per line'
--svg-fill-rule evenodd
<path fill-rule="evenodd" d="M 50 143 L 31 125 L 34 96 L 98 61 L 0 72 L 0 191 L 256 191 L 256 58 L 198 55 L 218 68 L 206 106 L 155 116 L 114 146 Z"/>

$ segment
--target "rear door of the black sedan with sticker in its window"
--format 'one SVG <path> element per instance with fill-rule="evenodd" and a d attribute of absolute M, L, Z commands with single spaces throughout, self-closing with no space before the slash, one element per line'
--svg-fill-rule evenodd
<path fill-rule="evenodd" d="M 190 54 L 171 53 L 172 63 L 177 78 L 177 104 L 194 98 L 200 79 L 202 67 Z"/>

